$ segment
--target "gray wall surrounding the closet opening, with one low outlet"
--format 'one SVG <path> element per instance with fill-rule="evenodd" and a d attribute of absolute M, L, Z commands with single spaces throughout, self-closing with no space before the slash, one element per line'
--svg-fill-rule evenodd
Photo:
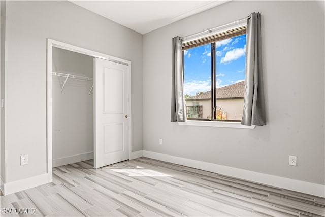
<path fill-rule="evenodd" d="M 46 173 L 47 38 L 132 61 L 132 150 L 142 150 L 142 35 L 68 1 L 8 1 L 6 182 Z"/>

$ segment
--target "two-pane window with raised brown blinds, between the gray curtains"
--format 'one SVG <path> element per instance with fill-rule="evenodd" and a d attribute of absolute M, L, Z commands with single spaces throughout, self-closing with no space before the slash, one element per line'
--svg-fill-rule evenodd
<path fill-rule="evenodd" d="M 245 54 L 246 26 L 183 43 L 189 120 L 241 121 Z"/>

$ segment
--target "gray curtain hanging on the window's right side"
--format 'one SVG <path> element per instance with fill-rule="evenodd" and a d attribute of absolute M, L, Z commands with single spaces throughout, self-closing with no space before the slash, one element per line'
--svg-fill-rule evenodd
<path fill-rule="evenodd" d="M 262 75 L 261 16 L 252 13 L 247 19 L 246 78 L 242 125 L 266 125 Z"/>

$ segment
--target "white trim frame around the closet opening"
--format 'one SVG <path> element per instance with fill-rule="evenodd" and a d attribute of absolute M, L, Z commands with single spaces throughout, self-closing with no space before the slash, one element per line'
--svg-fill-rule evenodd
<path fill-rule="evenodd" d="M 113 61 L 115 63 L 120 63 L 123 65 L 128 66 L 128 71 L 129 71 L 129 80 L 128 80 L 128 95 L 129 95 L 129 102 L 128 102 L 128 107 L 129 107 L 129 141 L 127 141 L 128 146 L 129 146 L 129 153 L 128 153 L 128 159 L 131 158 L 131 152 L 132 152 L 132 110 L 131 110 L 131 61 L 126 60 L 126 59 L 121 59 L 118 57 L 110 56 L 108 54 L 96 52 L 93 50 L 88 50 L 82 47 L 78 47 L 75 45 L 67 44 L 64 42 L 56 41 L 50 38 L 47 38 L 47 56 L 46 56 L 46 75 L 47 75 L 47 93 L 46 93 L 46 148 L 47 148 L 47 174 L 48 174 L 48 182 L 53 181 L 52 177 L 52 161 L 53 161 L 53 156 L 52 156 L 52 47 L 57 47 L 61 48 L 64 50 L 69 50 L 73 51 L 76 53 L 81 53 L 85 54 L 88 56 L 96 57 L 96 58 L 101 58 L 109 61 Z M 95 152 L 95 150 L 94 150 Z"/>

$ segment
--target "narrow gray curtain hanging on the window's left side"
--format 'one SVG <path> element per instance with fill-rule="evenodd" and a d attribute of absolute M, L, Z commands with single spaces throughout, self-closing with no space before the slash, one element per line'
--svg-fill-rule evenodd
<path fill-rule="evenodd" d="M 186 110 L 184 101 L 184 75 L 182 40 L 173 38 L 173 70 L 172 70 L 172 109 L 171 122 L 185 122 Z"/>

